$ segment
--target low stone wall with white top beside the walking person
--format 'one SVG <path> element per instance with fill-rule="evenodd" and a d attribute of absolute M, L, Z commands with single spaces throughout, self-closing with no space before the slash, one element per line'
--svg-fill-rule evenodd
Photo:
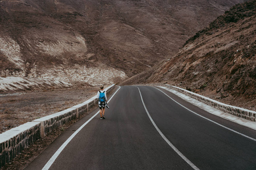
<path fill-rule="evenodd" d="M 105 88 L 107 95 L 114 85 L 112 84 L 112 86 Z M 82 114 L 88 113 L 97 104 L 98 99 L 94 96 L 84 103 L 75 105 L 65 111 L 38 118 L 0 134 L 0 168 L 9 163 L 10 160 L 13 160 L 24 148 L 29 147 L 39 138 L 44 137 L 53 129 L 79 118 Z"/>

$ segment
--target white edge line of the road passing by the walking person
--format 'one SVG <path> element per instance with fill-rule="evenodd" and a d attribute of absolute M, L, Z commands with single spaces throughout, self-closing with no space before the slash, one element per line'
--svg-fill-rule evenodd
<path fill-rule="evenodd" d="M 120 88 L 121 88 L 121 87 L 119 87 L 118 90 L 119 90 Z M 117 90 L 117 91 L 118 91 L 118 90 Z M 117 93 L 117 91 L 114 93 L 114 95 Z M 113 96 L 114 96 L 114 95 L 113 95 Z M 113 96 L 112 96 L 112 97 L 113 97 Z M 112 97 L 111 97 L 108 101 L 110 101 L 110 100 L 112 99 Z M 100 113 L 100 111 L 98 111 L 96 114 L 93 115 L 93 117 L 91 117 L 91 118 L 90 118 L 88 121 L 86 121 L 82 126 L 80 126 L 80 128 L 77 129 L 77 130 L 75 131 L 75 133 L 73 133 L 73 134 L 67 139 L 67 141 L 65 141 L 65 142 L 63 143 L 63 145 L 60 146 L 60 148 L 55 152 L 55 154 L 52 156 L 52 158 L 48 160 L 48 162 L 46 163 L 46 165 L 44 165 L 44 167 L 43 167 L 42 170 L 48 170 L 48 169 L 51 167 L 52 163 L 55 162 L 55 160 L 57 159 L 57 157 L 60 155 L 61 151 L 64 150 L 64 148 L 65 148 L 65 147 L 68 145 L 68 143 L 75 137 L 75 135 L 76 135 L 77 133 L 79 133 L 79 131 L 82 130 L 82 128 L 84 128 L 84 126 L 87 125 L 95 116 L 97 116 L 98 113 Z"/>

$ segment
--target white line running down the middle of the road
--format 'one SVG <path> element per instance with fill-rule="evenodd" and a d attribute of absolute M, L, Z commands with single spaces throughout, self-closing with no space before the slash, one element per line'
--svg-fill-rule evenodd
<path fill-rule="evenodd" d="M 139 87 L 137 87 L 138 90 L 139 90 Z M 139 90 L 139 94 L 141 95 L 141 91 Z M 150 118 L 152 124 L 155 126 L 155 129 L 158 131 L 158 133 L 162 136 L 162 138 L 164 139 L 164 141 L 166 141 L 168 143 L 169 146 L 171 146 L 171 148 L 183 159 L 185 160 L 185 162 L 187 162 L 193 169 L 199 169 L 196 167 L 196 165 L 194 165 L 190 160 L 188 160 L 183 154 L 181 154 L 181 152 L 179 150 L 177 150 L 177 148 L 172 145 L 172 143 L 166 138 L 166 136 L 164 136 L 164 134 L 162 133 L 162 131 L 158 128 L 158 126 L 156 126 L 154 120 L 152 120 L 150 114 L 148 113 L 147 111 L 147 108 L 146 108 L 146 105 L 144 104 L 144 101 L 143 101 L 143 98 L 142 98 L 142 95 L 141 95 L 141 100 L 142 100 L 142 103 L 143 103 L 143 106 L 147 112 L 147 116 Z"/>

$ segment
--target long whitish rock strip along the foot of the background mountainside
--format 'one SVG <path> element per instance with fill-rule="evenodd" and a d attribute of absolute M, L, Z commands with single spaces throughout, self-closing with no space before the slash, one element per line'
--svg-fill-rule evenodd
<path fill-rule="evenodd" d="M 113 84 L 127 78 L 123 71 L 107 67 L 85 67 L 76 65 L 42 69 L 39 74 L 32 71 L 28 77 L 0 77 L 0 91 L 34 90 L 38 88 L 69 88 L 74 82 L 86 82 L 92 86 Z M 35 77 L 36 75 L 36 77 Z"/>

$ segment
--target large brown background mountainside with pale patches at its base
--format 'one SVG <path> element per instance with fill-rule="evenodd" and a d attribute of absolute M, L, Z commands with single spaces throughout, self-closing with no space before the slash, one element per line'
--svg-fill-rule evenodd
<path fill-rule="evenodd" d="M 119 82 L 174 55 L 241 2 L 2 0 L 0 75 L 93 86 Z"/>

